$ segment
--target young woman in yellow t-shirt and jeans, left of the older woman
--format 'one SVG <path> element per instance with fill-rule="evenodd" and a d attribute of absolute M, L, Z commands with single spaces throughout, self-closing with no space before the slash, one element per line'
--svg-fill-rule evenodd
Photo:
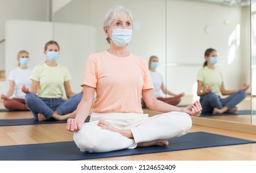
<path fill-rule="evenodd" d="M 67 67 L 59 65 L 56 60 L 59 57 L 59 44 L 56 41 L 48 41 L 45 44 L 44 53 L 46 62 L 36 65 L 30 79 L 31 90 L 23 86 L 22 91 L 26 93 L 25 101 L 35 119 L 39 121 L 56 119 L 66 120 L 75 117 L 75 109 L 79 104 L 82 93 L 72 92 L 70 88 L 70 74 Z M 62 99 L 66 91 L 67 100 Z M 39 88 L 39 93 L 36 91 Z"/>

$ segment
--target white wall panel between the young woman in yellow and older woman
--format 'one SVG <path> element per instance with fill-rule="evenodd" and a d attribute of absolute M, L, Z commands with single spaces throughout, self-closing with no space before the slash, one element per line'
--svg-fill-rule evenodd
<path fill-rule="evenodd" d="M 96 34 L 96 28 L 92 26 L 54 23 L 53 38 L 60 46 L 60 61 L 58 62 L 68 67 L 72 77 L 70 85 L 75 93 L 82 90 L 80 85 L 87 56 L 96 51 Z"/>

